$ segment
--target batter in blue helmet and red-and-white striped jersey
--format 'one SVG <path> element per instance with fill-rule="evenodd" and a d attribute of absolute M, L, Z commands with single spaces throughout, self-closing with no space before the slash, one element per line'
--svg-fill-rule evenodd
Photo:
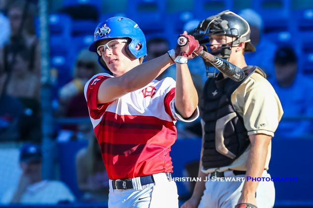
<path fill-rule="evenodd" d="M 132 20 L 101 22 L 90 50 L 112 75 L 97 74 L 85 85 L 90 119 L 109 177 L 109 208 L 178 208 L 169 152 L 175 121 L 199 116 L 198 96 L 187 66 L 199 42 L 186 33 L 175 50 L 143 64 L 143 32 Z M 176 83 L 155 80 L 176 62 Z"/>

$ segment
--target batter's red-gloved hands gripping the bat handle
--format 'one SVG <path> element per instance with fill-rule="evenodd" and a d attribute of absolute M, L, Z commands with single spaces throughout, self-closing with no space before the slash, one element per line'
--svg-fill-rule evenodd
<path fill-rule="evenodd" d="M 199 42 L 185 31 L 178 37 L 177 45 L 175 47 L 175 57 L 184 56 L 188 59 L 193 58 L 193 52 L 199 50 Z"/>

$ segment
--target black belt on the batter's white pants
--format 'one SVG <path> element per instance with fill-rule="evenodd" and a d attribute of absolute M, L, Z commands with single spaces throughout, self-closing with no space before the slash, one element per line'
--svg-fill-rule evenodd
<path fill-rule="evenodd" d="M 170 172 L 165 172 L 167 180 L 170 181 L 172 179 L 172 174 Z M 153 175 L 146 175 L 140 177 L 140 183 L 141 185 L 147 185 L 150 183 L 154 183 L 155 179 L 153 178 Z M 132 179 L 117 179 L 112 180 L 112 187 L 113 189 L 117 190 L 126 190 L 126 189 L 133 189 L 133 183 Z"/>

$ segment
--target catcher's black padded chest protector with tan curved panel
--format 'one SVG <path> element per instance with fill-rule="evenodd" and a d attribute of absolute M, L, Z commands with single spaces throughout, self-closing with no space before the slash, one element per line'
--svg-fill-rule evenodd
<path fill-rule="evenodd" d="M 231 95 L 254 72 L 266 75 L 256 66 L 247 66 L 240 82 L 224 79 L 221 73 L 209 79 L 200 101 L 200 115 L 205 122 L 202 165 L 204 169 L 229 166 L 250 144 L 243 118 L 235 111 Z"/>

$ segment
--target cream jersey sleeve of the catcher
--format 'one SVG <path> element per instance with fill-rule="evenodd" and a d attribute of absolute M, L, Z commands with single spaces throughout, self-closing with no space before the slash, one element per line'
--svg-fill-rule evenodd
<path fill-rule="evenodd" d="M 244 120 L 248 135 L 266 134 L 274 136 L 283 115 L 279 98 L 272 85 L 261 75 L 238 87 L 232 103 Z"/>

